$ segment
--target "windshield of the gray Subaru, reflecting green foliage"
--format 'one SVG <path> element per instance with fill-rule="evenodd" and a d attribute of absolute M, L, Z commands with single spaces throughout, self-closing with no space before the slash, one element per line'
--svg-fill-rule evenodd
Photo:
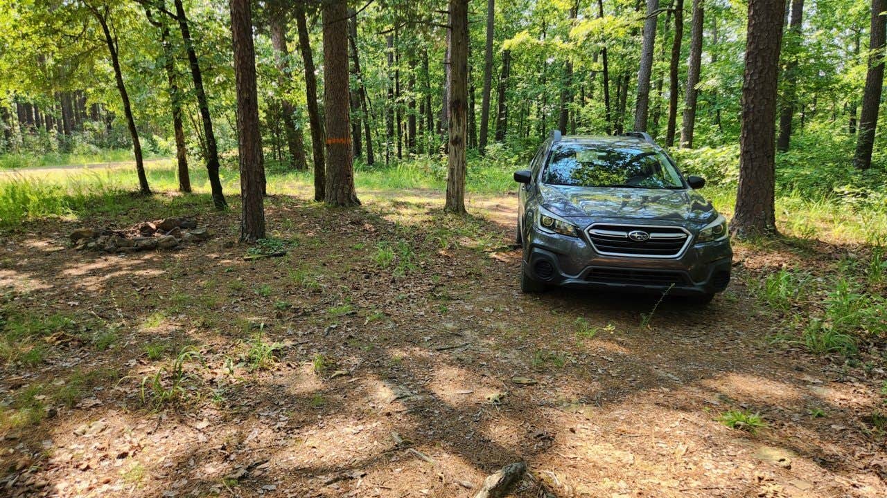
<path fill-rule="evenodd" d="M 559 144 L 548 156 L 543 183 L 574 187 L 683 189 L 663 152 L 621 144 Z"/>

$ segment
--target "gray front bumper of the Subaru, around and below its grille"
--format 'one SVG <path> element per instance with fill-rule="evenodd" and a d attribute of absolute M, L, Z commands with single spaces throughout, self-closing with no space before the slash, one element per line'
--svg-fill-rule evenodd
<path fill-rule="evenodd" d="M 585 238 L 537 230 L 526 233 L 523 271 L 562 287 L 698 295 L 722 292 L 730 282 L 733 251 L 728 238 L 692 244 L 679 258 L 605 256 Z"/>

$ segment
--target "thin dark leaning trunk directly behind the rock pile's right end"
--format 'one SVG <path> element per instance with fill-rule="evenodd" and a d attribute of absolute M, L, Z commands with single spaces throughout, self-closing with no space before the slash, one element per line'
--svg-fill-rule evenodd
<path fill-rule="evenodd" d="M 213 205 L 216 206 L 216 209 L 224 209 L 228 206 L 228 203 L 224 200 L 222 182 L 219 180 L 219 155 L 216 147 L 216 134 L 213 132 L 213 121 L 209 114 L 207 93 L 203 89 L 203 75 L 200 73 L 200 62 L 197 60 L 197 51 L 194 51 L 191 30 L 188 27 L 188 17 L 184 12 L 182 0 L 175 0 L 175 4 L 176 19 L 179 30 L 182 32 L 185 51 L 188 52 L 188 65 L 191 67 L 194 95 L 197 97 L 197 106 L 200 108 L 200 119 L 203 123 L 204 143 L 206 144 L 207 152 L 207 176 L 213 195 Z"/>

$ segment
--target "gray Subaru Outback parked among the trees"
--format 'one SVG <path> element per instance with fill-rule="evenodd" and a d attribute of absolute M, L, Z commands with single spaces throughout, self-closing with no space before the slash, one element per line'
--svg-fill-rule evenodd
<path fill-rule="evenodd" d="M 726 219 L 646 133 L 561 136 L 514 173 L 522 292 L 664 292 L 707 303 L 730 283 Z"/>

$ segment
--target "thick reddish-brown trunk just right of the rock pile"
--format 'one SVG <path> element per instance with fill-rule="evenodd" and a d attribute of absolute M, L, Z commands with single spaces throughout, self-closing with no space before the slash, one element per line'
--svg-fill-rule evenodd
<path fill-rule="evenodd" d="M 249 3 L 250 0 L 231 0 L 234 76 L 237 84 L 241 242 L 255 242 L 265 237 L 262 135 L 259 133 L 259 97 L 255 90 L 255 48 Z"/>

